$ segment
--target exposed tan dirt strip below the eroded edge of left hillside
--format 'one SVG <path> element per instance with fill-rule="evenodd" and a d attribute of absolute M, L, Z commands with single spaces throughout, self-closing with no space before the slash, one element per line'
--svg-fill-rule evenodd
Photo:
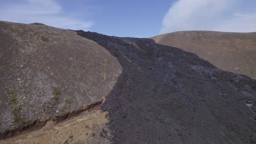
<path fill-rule="evenodd" d="M 48 144 L 48 143 L 110 143 L 108 130 L 108 113 L 100 107 L 85 111 L 60 123 L 48 121 L 36 131 L 27 131 L 21 135 L 1 140 L 2 144 Z"/>

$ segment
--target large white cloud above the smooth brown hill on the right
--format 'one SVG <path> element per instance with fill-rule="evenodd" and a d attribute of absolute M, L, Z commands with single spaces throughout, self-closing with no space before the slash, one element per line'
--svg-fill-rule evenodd
<path fill-rule="evenodd" d="M 256 31 L 256 9 L 249 12 L 241 9 L 238 5 L 242 2 L 245 1 L 179 0 L 173 3 L 165 14 L 160 33 L 193 30 Z M 254 4 L 251 7 L 254 7 Z"/>

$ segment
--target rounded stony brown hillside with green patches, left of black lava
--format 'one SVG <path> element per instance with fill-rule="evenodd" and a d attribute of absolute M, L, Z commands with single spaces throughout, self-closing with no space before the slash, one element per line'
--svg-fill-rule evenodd
<path fill-rule="evenodd" d="M 106 97 L 117 58 L 75 32 L 0 22 L 0 133 L 83 109 Z"/>

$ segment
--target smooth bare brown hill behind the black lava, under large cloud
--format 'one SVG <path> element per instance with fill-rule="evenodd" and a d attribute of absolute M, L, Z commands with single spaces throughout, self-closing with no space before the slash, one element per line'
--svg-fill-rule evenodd
<path fill-rule="evenodd" d="M 256 79 L 256 33 L 184 31 L 152 39 L 162 45 L 196 53 L 219 69 Z"/>

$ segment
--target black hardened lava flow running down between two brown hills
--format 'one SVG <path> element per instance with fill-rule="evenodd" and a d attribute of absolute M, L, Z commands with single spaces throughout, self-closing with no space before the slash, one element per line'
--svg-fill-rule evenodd
<path fill-rule="evenodd" d="M 114 143 L 255 143 L 256 81 L 194 53 L 78 31 L 123 68 L 102 106 Z"/>

